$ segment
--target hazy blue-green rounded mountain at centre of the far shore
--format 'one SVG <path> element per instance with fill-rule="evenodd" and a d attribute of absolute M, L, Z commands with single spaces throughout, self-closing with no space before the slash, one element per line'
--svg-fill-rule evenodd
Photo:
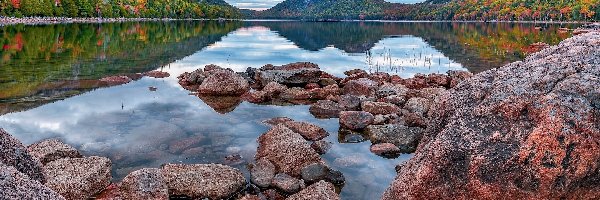
<path fill-rule="evenodd" d="M 382 17 L 384 0 L 286 0 L 256 13 L 256 18 L 279 19 L 378 19 Z"/>

